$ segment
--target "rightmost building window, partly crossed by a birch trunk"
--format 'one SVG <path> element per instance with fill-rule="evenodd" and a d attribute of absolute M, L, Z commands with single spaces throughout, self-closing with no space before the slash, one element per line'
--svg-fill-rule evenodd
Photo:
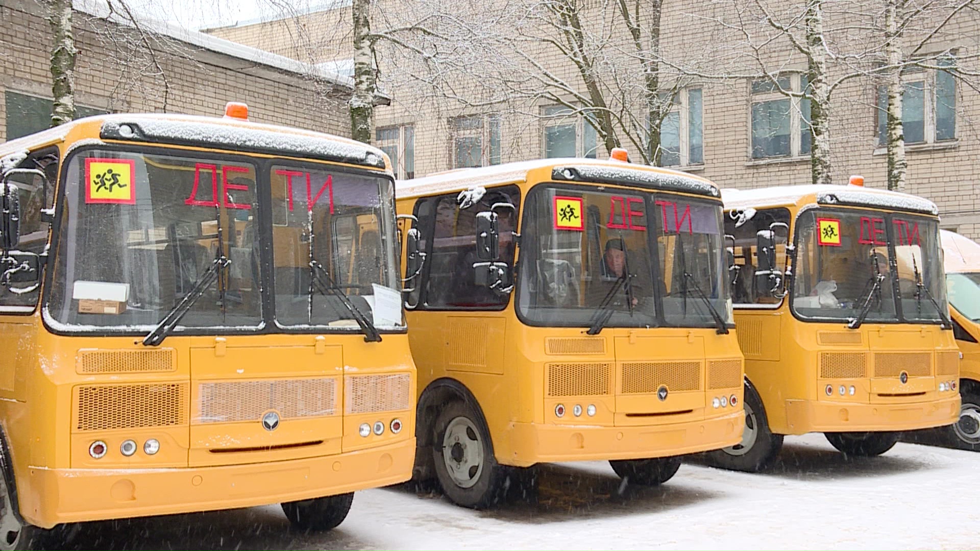
<path fill-rule="evenodd" d="M 936 60 L 954 67 L 953 57 Z M 912 68 L 902 75 L 902 129 L 906 143 L 956 139 L 956 77 L 948 71 Z M 877 143 L 888 143 L 888 87 L 878 86 Z"/>

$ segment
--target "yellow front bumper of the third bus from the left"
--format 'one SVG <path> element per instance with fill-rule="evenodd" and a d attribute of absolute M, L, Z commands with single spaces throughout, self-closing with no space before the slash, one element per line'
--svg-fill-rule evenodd
<path fill-rule="evenodd" d="M 958 419 L 959 395 L 903 404 L 786 400 L 786 422 L 790 434 L 915 430 L 952 425 Z"/>

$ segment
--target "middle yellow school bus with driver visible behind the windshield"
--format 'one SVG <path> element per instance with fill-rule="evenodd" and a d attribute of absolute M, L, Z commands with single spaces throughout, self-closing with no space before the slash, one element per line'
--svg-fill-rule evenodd
<path fill-rule="evenodd" d="M 658 484 L 678 456 L 740 440 L 713 183 L 548 159 L 397 186 L 415 219 L 403 265 L 417 479 L 480 508 L 533 484 L 524 468 L 538 463 L 610 460 Z"/>

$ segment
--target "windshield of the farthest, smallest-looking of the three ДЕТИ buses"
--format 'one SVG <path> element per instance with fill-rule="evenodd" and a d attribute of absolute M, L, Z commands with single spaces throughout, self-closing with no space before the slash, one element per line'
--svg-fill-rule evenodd
<path fill-rule="evenodd" d="M 793 308 L 803 318 L 940 323 L 939 227 L 907 214 L 811 210 L 800 216 Z"/>

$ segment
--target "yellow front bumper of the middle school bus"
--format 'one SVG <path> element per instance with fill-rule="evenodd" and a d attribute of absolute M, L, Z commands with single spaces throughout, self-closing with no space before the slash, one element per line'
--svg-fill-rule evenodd
<path fill-rule="evenodd" d="M 649 459 L 733 446 L 742 441 L 745 413 L 707 420 L 646 426 L 560 426 L 516 423 L 512 457 L 497 461 L 515 467 L 560 461 Z"/>

